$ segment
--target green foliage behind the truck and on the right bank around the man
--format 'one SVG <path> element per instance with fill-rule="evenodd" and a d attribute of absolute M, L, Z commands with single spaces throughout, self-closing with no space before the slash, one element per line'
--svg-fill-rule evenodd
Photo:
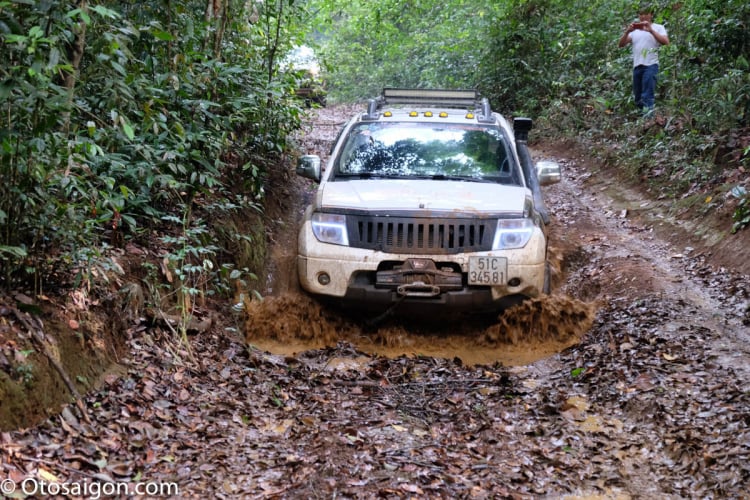
<path fill-rule="evenodd" d="M 316 37 L 329 98 L 384 86 L 470 87 L 537 134 L 567 136 L 632 179 L 680 197 L 748 168 L 750 3 L 654 2 L 670 45 L 660 49 L 656 126 L 631 96 L 631 49 L 618 39 L 632 0 L 317 0 Z M 742 217 L 741 217 L 742 219 Z"/>

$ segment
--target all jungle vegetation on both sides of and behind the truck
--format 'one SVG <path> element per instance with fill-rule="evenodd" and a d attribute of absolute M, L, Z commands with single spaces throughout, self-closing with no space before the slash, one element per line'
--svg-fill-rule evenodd
<path fill-rule="evenodd" d="M 0 0 L 2 288 L 91 287 L 128 242 L 158 243 L 184 296 L 251 279 L 264 231 L 236 221 L 293 147 L 302 44 L 329 102 L 477 88 L 660 196 L 733 203 L 742 230 L 750 4 L 654 6 L 671 44 L 646 123 L 617 48 L 633 1 Z"/>

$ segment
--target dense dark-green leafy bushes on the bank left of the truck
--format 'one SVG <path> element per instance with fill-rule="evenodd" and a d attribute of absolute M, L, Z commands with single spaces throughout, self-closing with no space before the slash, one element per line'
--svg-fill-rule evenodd
<path fill-rule="evenodd" d="M 87 5 L 0 1 L 5 286 L 88 280 L 203 198 L 253 209 L 299 127 L 273 55 L 299 2 Z"/>

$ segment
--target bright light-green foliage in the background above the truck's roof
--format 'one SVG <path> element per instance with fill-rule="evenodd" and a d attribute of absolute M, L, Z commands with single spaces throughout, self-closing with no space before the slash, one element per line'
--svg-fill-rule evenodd
<path fill-rule="evenodd" d="M 474 87 L 483 29 L 495 2 L 314 2 L 325 79 L 339 101 L 384 86 Z"/>

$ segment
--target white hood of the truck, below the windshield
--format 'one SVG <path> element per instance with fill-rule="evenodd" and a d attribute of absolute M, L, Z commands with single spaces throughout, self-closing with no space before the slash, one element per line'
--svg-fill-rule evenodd
<path fill-rule="evenodd" d="M 364 179 L 328 182 L 319 193 L 323 210 L 523 213 L 526 188 L 484 182 Z"/>

